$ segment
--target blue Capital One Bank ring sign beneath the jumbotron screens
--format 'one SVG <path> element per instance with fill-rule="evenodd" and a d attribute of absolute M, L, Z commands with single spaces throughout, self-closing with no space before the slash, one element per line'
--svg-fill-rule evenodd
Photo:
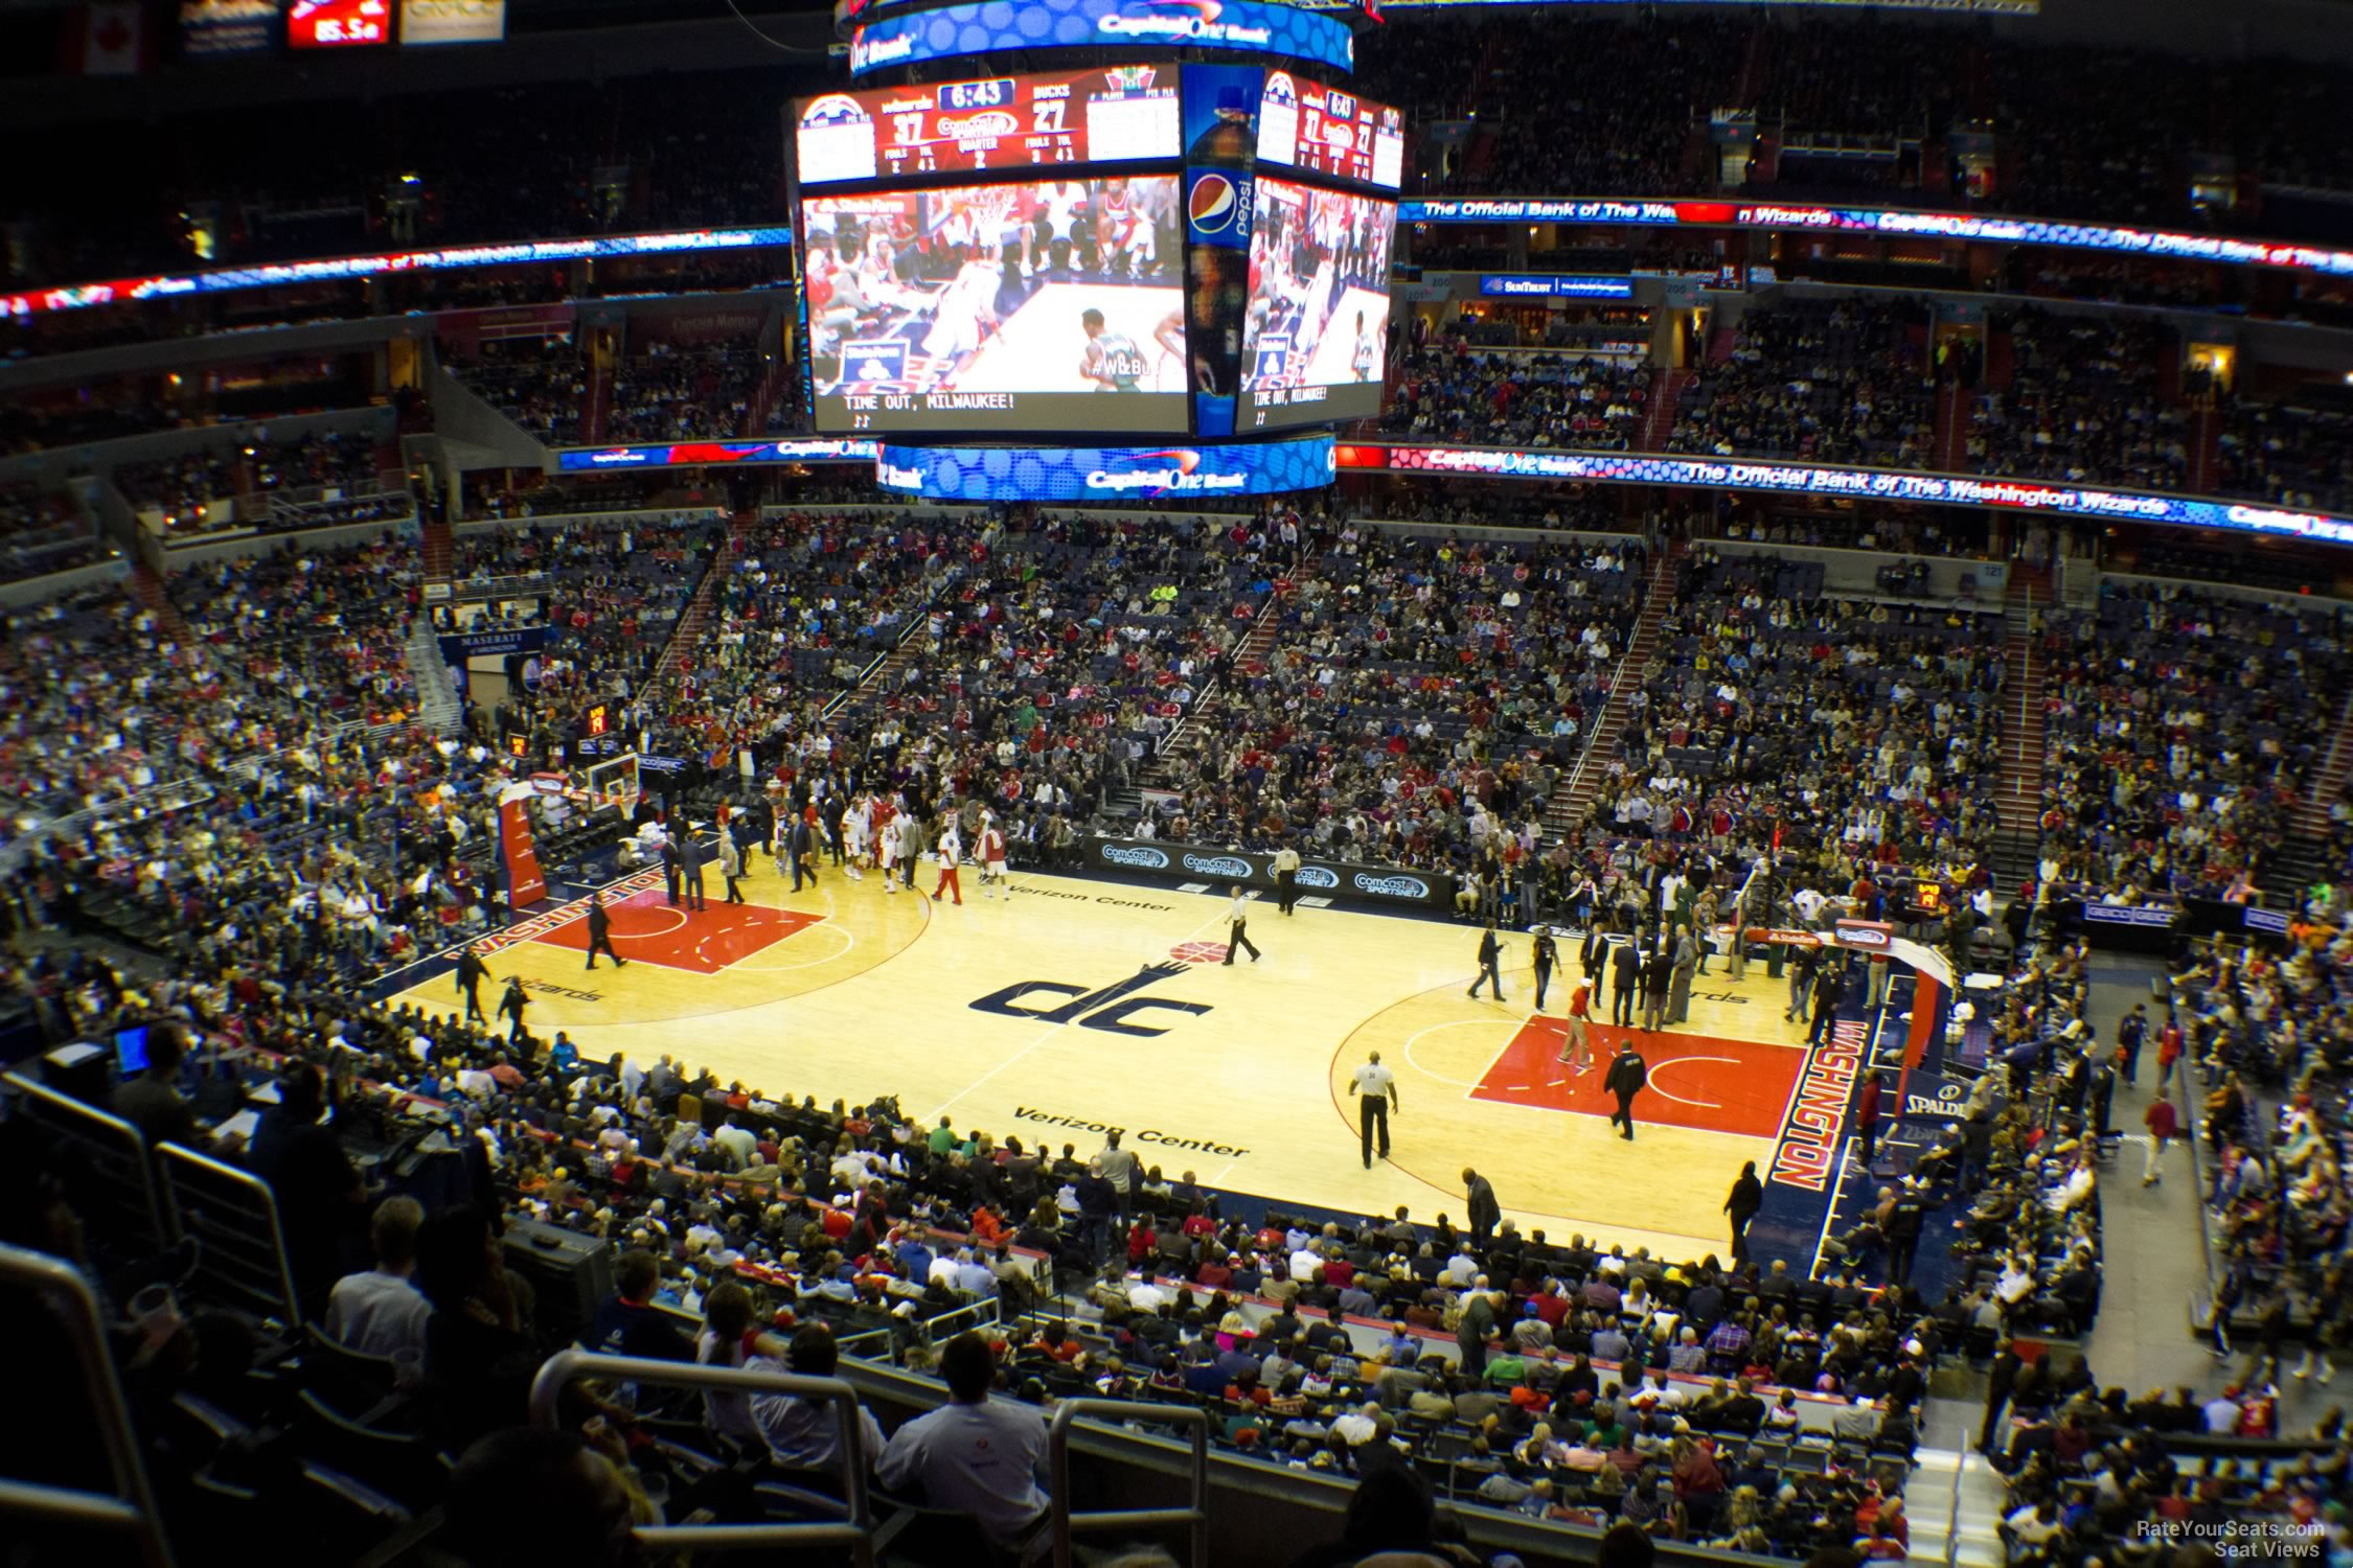
<path fill-rule="evenodd" d="M 882 447 L 875 484 L 936 501 L 1278 496 L 1332 482 L 1332 437 L 1198 447 Z"/>

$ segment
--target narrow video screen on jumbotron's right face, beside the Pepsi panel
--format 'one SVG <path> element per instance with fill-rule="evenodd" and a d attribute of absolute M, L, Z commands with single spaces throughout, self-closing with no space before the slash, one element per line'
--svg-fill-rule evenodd
<path fill-rule="evenodd" d="M 1238 430 L 1381 411 L 1398 205 L 1257 181 Z"/>

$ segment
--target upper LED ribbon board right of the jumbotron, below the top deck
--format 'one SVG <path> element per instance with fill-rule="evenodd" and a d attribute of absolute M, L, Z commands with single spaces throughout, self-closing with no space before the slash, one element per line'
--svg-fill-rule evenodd
<path fill-rule="evenodd" d="M 2005 219 L 1986 212 L 1911 212 L 1897 207 L 1805 207 L 1793 202 L 1682 202 L 1640 197 L 1461 195 L 1398 202 L 1400 223 L 1633 223 L 1649 228 L 1772 228 L 1868 233 L 1889 240 L 1962 240 L 1969 244 L 2054 244 L 2061 249 L 2169 256 L 2221 266 L 2273 266 L 2292 273 L 2353 277 L 2353 252 L 2289 240 L 2233 240 L 2162 228 L 2115 228 L 2061 219 Z"/>

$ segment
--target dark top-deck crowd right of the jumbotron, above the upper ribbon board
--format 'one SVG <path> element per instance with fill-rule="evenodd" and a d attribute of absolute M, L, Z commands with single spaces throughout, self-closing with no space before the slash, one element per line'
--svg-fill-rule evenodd
<path fill-rule="evenodd" d="M 1468 63 L 1457 87 L 1431 59 Z M 1755 113 L 1795 146 L 1882 148 L 1882 158 L 1788 158 L 1774 188 L 1864 190 L 2118 223 L 2261 228 L 2311 221 L 2233 205 L 2252 172 L 2271 186 L 2353 186 L 2327 103 L 2344 68 L 2318 61 L 2214 63 L 2035 35 L 1995 38 L 1932 21 L 1786 16 L 1442 16 L 1402 19 L 1365 49 L 1367 92 L 1459 103 L 1473 136 L 1428 188 L 1513 195 L 1701 195 L 1718 188 L 1715 110 Z M 2191 106 L 2191 108 L 2184 108 Z M 1607 127 L 1593 136 L 1560 125 Z M 1991 134 L 1991 183 L 1946 148 Z M 1492 143 L 1480 146 L 1492 136 Z M 1897 158 L 1899 146 L 1918 158 Z M 2014 155 L 2009 155 L 2014 148 Z M 2207 174 L 2193 195 L 2191 174 Z M 1887 188 L 1899 186 L 1899 188 Z M 2278 207 L 2271 202 L 2268 207 Z"/>

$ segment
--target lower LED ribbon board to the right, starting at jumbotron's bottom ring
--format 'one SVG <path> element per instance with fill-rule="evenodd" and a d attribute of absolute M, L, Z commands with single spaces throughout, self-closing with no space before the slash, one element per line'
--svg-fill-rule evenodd
<path fill-rule="evenodd" d="M 1852 501 L 1911 501 L 1920 505 L 1991 505 L 2009 512 L 2160 522 L 2191 529 L 2282 534 L 2325 545 L 2353 545 L 2353 517 L 2299 512 L 2254 501 L 2195 501 L 2042 480 L 1981 480 L 1974 475 L 1908 473 L 1897 468 L 1821 468 L 1765 458 L 1685 458 L 1626 451 L 1513 451 L 1504 447 L 1369 447 L 1337 449 L 1341 468 L 1452 473 L 1492 480 L 1567 480 L 1584 484 L 1678 484 L 1694 489 L 1767 491 L 1779 496 L 1845 496 Z"/>

